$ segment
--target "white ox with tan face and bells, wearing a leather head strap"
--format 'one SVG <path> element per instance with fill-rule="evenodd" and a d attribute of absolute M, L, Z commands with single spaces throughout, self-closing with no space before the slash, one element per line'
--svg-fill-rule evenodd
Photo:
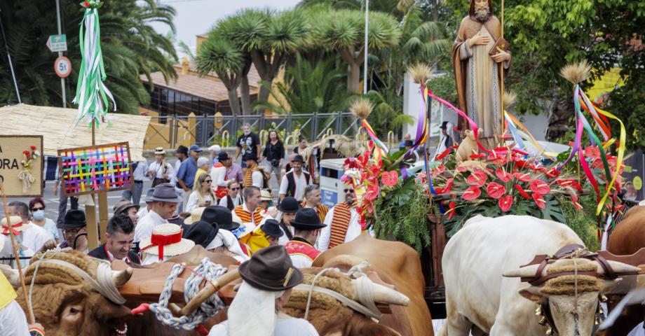
<path fill-rule="evenodd" d="M 542 336 L 550 326 L 538 323 L 536 303 L 545 303 L 541 310 L 552 318 L 547 321 L 551 332 L 591 335 L 599 296 L 618 282 L 602 279 L 604 269 L 597 262 L 551 260 L 540 274 L 552 275 L 549 279 L 535 286 L 520 280 L 538 272 L 538 265 L 520 265 L 573 244 L 583 246 L 583 241 L 561 223 L 530 216 L 471 218 L 444 250 L 447 323 L 440 335 L 466 336 L 477 328 L 489 335 Z M 637 270 L 609 264 L 616 273 Z"/>

